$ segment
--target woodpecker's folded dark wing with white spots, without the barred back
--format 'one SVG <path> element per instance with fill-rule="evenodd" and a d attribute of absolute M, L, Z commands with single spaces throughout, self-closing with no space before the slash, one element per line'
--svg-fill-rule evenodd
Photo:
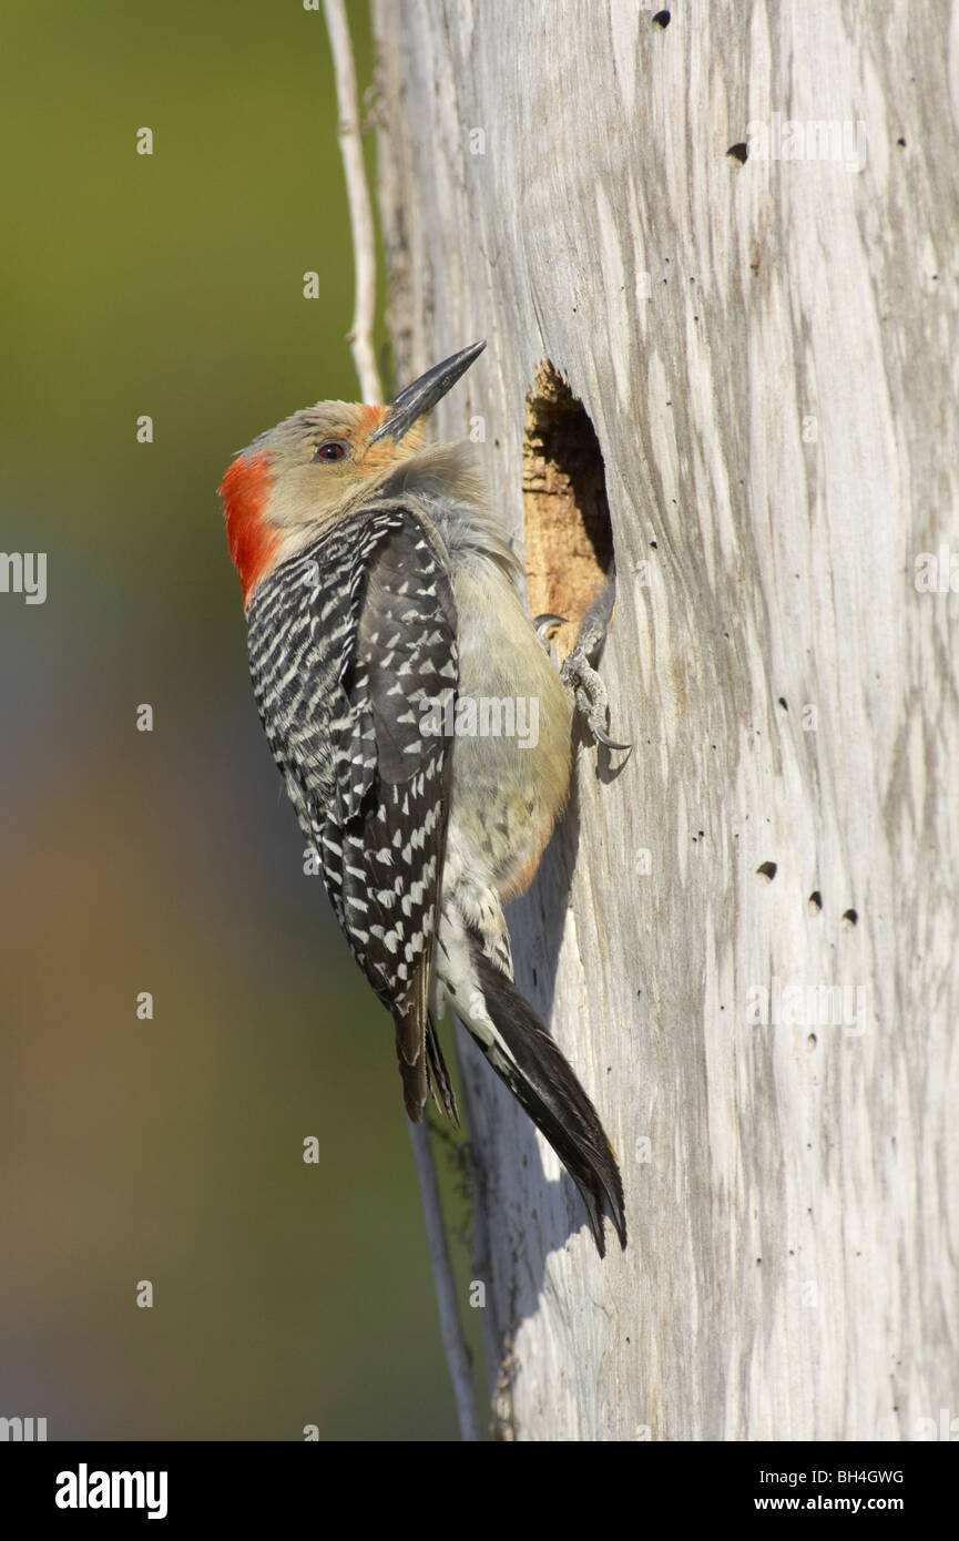
<path fill-rule="evenodd" d="M 456 607 L 438 536 L 409 509 L 364 518 L 350 609 L 322 840 L 325 854 L 339 854 L 327 886 L 393 1012 L 407 1113 L 418 1120 L 452 770 L 452 738 L 436 730 L 442 713 L 427 707 L 456 689 Z"/>

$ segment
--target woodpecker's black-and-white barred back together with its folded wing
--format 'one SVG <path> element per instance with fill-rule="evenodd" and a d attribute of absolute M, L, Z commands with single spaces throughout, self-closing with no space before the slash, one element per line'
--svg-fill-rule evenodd
<path fill-rule="evenodd" d="M 396 1023 L 410 1117 L 452 1091 L 429 1023 L 456 687 L 456 612 L 438 538 L 385 505 L 285 562 L 250 607 L 267 740 L 356 962 Z M 424 715 L 429 720 L 424 730 Z"/>

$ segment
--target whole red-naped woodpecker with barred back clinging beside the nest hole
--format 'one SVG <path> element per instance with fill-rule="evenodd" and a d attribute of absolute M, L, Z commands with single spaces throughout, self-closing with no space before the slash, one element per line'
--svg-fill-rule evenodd
<path fill-rule="evenodd" d="M 566 803 L 574 709 L 612 740 L 595 636 L 560 675 L 469 447 L 427 442 L 424 418 L 484 347 L 387 407 L 296 411 L 239 453 L 219 493 L 259 715 L 353 957 L 393 1017 L 409 1117 L 422 1120 L 432 1093 L 456 1122 L 436 1036 L 450 1006 L 564 1163 L 603 1256 L 604 1216 L 626 1247 L 617 1159 L 513 985 L 503 905 L 532 881 Z M 510 700 L 537 703 L 535 743 L 449 732 L 453 704 Z"/>

